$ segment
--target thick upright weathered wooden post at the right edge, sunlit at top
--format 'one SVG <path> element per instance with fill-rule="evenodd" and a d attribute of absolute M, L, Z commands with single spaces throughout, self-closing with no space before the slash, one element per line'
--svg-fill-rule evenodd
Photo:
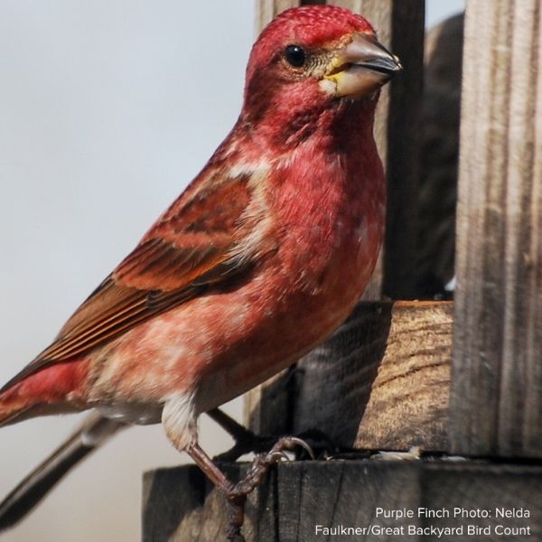
<path fill-rule="evenodd" d="M 451 441 L 542 457 L 542 8 L 467 4 Z"/>

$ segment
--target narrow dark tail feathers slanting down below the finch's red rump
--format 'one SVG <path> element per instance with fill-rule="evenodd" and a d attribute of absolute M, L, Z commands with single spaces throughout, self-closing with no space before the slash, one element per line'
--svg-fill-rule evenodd
<path fill-rule="evenodd" d="M 0 416 L 2 414 L 4 412 L 0 412 Z M 65 474 L 123 427 L 126 425 L 97 414 L 89 416 L 65 443 L 0 502 L 0 531 L 13 527 L 23 519 Z"/>

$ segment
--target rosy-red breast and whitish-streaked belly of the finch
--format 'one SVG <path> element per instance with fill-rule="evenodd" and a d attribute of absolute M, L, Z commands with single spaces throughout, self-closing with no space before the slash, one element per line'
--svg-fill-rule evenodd
<path fill-rule="evenodd" d="M 276 249 L 229 290 L 210 290 L 97 351 L 89 396 L 107 390 L 109 403 L 160 405 L 193 393 L 203 412 L 298 360 L 347 318 L 377 261 L 383 192 L 368 186 L 383 178 L 294 173 L 261 191 L 269 214 L 258 235 L 271 235 Z"/>

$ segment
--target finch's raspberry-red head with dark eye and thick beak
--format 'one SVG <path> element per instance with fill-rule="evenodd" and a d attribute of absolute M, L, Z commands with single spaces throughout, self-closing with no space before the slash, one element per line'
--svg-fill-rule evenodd
<path fill-rule="evenodd" d="M 370 23 L 332 5 L 286 10 L 266 26 L 248 61 L 245 110 L 258 121 L 374 98 L 401 70 Z"/>

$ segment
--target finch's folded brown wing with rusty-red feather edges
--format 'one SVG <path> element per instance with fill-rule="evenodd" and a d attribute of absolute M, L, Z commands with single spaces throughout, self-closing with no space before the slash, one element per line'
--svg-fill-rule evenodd
<path fill-rule="evenodd" d="M 70 317 L 55 341 L 2 390 L 247 272 L 265 253 L 248 249 L 258 208 L 252 184 L 249 174 L 224 173 L 193 182 Z"/>

